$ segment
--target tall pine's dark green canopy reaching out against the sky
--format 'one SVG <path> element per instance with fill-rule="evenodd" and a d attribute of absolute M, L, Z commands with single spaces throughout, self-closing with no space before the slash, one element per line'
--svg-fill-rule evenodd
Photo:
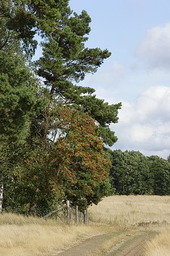
<path fill-rule="evenodd" d="M 42 77 L 52 97 L 90 113 L 101 126 L 101 138 L 112 146 L 117 138 L 108 125 L 117 122 L 121 104 L 109 105 L 96 98 L 94 89 L 77 85 L 88 73 L 95 73 L 111 55 L 107 49 L 86 47 L 91 30 L 87 12 L 74 13 L 65 0 L 3 0 L 0 14 L 1 49 L 9 47 L 10 40 L 17 39 L 20 48 L 30 57 L 38 43 L 35 35 L 39 34 L 42 57 L 36 61 L 37 75 Z"/>

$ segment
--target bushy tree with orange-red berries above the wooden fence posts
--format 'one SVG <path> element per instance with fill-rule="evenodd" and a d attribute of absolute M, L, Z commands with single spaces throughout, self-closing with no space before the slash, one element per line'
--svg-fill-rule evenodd
<path fill-rule="evenodd" d="M 109 195 L 111 163 L 98 138 L 99 128 L 88 114 L 61 106 L 56 112 L 60 136 L 50 150 L 36 148 L 15 169 L 12 193 L 18 195 L 15 203 L 20 205 L 36 202 L 36 207 L 46 205 L 50 210 L 56 203 L 70 200 L 83 211 Z"/>

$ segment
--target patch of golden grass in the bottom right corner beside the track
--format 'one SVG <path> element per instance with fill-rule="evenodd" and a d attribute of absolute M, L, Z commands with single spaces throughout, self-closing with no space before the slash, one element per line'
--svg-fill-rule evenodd
<path fill-rule="evenodd" d="M 146 245 L 145 256 L 169 256 L 170 255 L 170 228 L 158 234 Z"/>

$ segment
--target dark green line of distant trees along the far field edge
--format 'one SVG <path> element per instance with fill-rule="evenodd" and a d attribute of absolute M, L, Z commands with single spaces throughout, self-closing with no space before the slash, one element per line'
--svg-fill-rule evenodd
<path fill-rule="evenodd" d="M 111 183 L 118 195 L 170 195 L 170 161 L 139 151 L 110 151 Z"/>

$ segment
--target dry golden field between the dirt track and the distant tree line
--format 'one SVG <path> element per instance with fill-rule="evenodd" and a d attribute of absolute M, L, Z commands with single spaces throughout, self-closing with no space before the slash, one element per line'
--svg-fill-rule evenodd
<path fill-rule="evenodd" d="M 109 196 L 89 209 L 90 220 L 119 230 L 170 224 L 170 196 Z"/>

